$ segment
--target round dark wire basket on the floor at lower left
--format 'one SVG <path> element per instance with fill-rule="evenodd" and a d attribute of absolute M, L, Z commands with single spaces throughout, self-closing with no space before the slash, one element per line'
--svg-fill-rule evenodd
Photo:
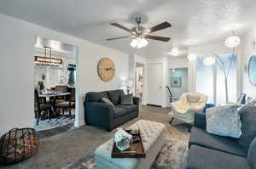
<path fill-rule="evenodd" d="M 39 139 L 33 128 L 14 128 L 0 138 L 0 163 L 12 164 L 38 152 Z"/>

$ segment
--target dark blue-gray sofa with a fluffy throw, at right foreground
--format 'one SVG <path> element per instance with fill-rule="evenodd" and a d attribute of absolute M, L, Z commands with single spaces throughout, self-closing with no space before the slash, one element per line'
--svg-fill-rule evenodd
<path fill-rule="evenodd" d="M 241 138 L 208 133 L 206 116 L 195 113 L 186 169 L 256 169 L 256 107 L 245 106 L 239 113 Z"/>

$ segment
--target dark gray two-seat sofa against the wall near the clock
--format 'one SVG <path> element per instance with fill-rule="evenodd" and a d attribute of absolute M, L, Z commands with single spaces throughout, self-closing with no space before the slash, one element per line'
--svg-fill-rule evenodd
<path fill-rule="evenodd" d="M 88 125 L 103 127 L 111 131 L 126 121 L 139 115 L 139 98 L 133 97 L 133 105 L 121 105 L 120 95 L 123 90 L 111 90 L 104 92 L 86 93 L 84 101 L 84 118 Z M 109 99 L 115 109 L 108 104 L 102 103 L 102 98 Z"/>

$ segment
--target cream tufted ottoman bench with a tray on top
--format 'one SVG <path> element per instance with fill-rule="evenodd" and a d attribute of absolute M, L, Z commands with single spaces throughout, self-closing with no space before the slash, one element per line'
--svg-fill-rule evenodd
<path fill-rule="evenodd" d="M 111 158 L 113 138 L 95 151 L 96 169 L 148 169 L 164 144 L 165 125 L 154 121 L 140 120 L 128 127 L 140 129 L 146 158 Z"/>

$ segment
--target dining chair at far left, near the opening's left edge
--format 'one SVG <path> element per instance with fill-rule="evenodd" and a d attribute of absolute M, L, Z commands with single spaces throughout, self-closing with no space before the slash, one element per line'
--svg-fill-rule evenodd
<path fill-rule="evenodd" d="M 39 124 L 39 120 L 41 118 L 41 113 L 46 112 L 49 115 L 50 110 L 50 104 L 42 104 L 39 98 L 38 90 L 34 90 L 34 112 L 35 112 L 35 118 L 37 119 L 37 126 Z"/>

